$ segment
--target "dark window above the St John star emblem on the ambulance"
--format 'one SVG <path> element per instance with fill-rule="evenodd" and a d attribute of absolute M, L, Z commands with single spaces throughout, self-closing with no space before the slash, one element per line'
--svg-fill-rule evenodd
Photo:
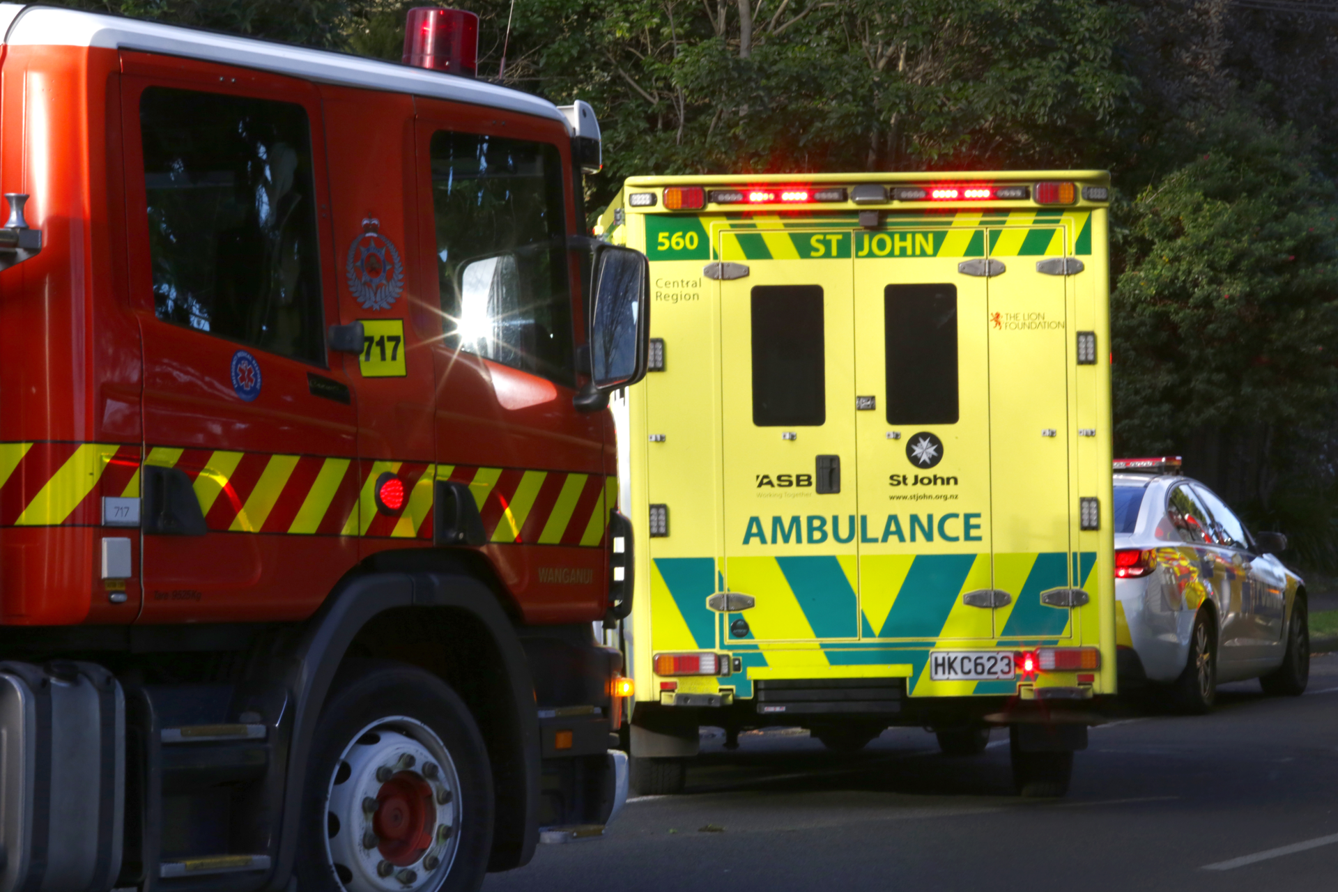
<path fill-rule="evenodd" d="M 957 286 L 883 290 L 888 424 L 957 424 Z"/>

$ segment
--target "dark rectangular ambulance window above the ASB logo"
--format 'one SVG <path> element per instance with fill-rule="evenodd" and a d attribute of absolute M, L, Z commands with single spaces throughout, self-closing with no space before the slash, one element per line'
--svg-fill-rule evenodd
<path fill-rule="evenodd" d="M 827 420 L 823 289 L 757 285 L 752 290 L 753 424 Z"/>

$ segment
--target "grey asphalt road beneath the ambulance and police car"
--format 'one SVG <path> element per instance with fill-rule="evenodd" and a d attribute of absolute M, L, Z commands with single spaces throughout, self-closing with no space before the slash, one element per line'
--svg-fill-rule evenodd
<path fill-rule="evenodd" d="M 603 839 L 541 845 L 484 889 L 1334 889 L 1338 654 L 1310 689 L 1222 689 L 1211 715 L 1132 709 L 1090 733 L 1064 800 L 1012 796 L 1006 734 L 953 760 L 917 729 L 852 757 L 807 733 L 706 741 L 684 796 Z"/>

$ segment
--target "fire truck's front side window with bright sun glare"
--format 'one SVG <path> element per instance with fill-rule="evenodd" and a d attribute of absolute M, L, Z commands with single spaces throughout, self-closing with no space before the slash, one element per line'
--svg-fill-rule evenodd
<path fill-rule="evenodd" d="M 432 135 L 447 342 L 573 385 L 571 278 L 555 146 Z"/>

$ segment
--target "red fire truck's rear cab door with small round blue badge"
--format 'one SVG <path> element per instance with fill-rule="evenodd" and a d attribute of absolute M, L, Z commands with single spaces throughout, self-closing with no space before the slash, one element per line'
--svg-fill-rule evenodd
<path fill-rule="evenodd" d="M 149 53 L 122 64 L 140 483 L 158 487 L 140 619 L 298 619 L 357 559 L 340 535 L 357 463 L 348 381 L 325 346 L 316 91 Z"/>

